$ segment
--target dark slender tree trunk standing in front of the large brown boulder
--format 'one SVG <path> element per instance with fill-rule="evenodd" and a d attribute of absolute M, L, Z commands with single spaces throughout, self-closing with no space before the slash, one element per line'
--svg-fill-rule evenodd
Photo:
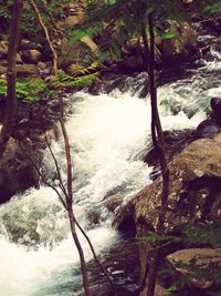
<path fill-rule="evenodd" d="M 156 150 L 162 176 L 162 188 L 161 188 L 161 206 L 160 213 L 158 215 L 158 224 L 156 228 L 156 234 L 160 235 L 165 231 L 165 220 L 168 206 L 168 195 L 169 195 L 169 171 L 167 166 L 167 160 L 165 154 L 165 139 L 161 127 L 161 122 L 159 118 L 158 106 L 157 106 L 157 88 L 155 82 L 155 32 L 154 32 L 154 18 L 152 13 L 148 14 L 148 27 L 149 27 L 149 37 L 150 45 L 149 51 L 145 50 L 146 54 L 148 53 L 148 76 L 149 76 L 149 93 L 150 93 L 150 103 L 151 103 L 151 136 L 154 149 Z M 146 30 L 143 29 L 143 41 L 145 48 L 148 49 Z M 143 285 L 147 285 L 147 296 L 155 295 L 155 287 L 157 282 L 157 275 L 159 266 L 161 263 L 161 256 L 158 252 L 149 258 L 150 262 L 147 264 L 148 271 L 145 272 L 145 277 L 143 279 Z M 146 277 L 147 283 L 146 283 Z"/>

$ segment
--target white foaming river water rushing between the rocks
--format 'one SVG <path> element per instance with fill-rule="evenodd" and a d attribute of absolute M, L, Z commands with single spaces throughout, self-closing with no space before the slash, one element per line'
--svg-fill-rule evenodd
<path fill-rule="evenodd" d="M 188 78 L 159 88 L 164 130 L 194 129 L 206 118 L 210 99 L 221 96 L 221 57 L 215 48 L 201 62 L 202 67 Z M 145 73 L 134 80 L 140 83 L 144 78 Z M 124 273 L 117 265 L 117 254 L 127 244 L 112 227 L 114 214 L 106 202 L 117 197 L 126 203 L 150 182 L 150 167 L 143 162 L 150 146 L 149 98 L 139 99 L 129 88 L 130 80 L 125 93 L 117 89 L 99 95 L 77 92 L 64 99 L 74 164 L 74 212 L 102 261 L 112 266 L 113 275 Z M 63 146 L 62 140 L 52 144 L 65 180 Z M 56 184 L 49 152 L 43 170 Z M 51 188 L 31 188 L 1 205 L 0 224 L 1 296 L 82 295 L 78 256 L 66 213 Z M 90 248 L 83 237 L 81 241 L 91 262 Z M 113 249 L 116 258 L 108 265 Z M 102 277 L 98 268 L 92 268 L 92 279 L 93 273 Z M 96 295 L 98 289 L 97 284 Z"/>

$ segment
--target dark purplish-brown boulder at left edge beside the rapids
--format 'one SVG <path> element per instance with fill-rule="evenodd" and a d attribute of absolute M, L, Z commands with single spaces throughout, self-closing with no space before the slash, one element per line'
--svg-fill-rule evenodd
<path fill-rule="evenodd" d="M 29 149 L 29 153 L 38 162 L 32 149 Z M 23 155 L 18 142 L 11 137 L 0 160 L 0 203 L 31 186 L 38 186 L 38 184 L 36 171 Z"/>

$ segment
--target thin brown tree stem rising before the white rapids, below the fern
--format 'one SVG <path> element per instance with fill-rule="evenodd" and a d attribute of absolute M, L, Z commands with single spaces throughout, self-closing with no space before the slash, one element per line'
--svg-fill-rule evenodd
<path fill-rule="evenodd" d="M 63 120 L 63 103 L 62 99 L 60 100 L 60 123 L 62 127 L 62 134 L 64 137 L 64 143 L 65 143 L 65 152 L 66 152 L 66 167 L 67 167 L 67 193 L 66 193 L 66 205 L 67 205 L 67 212 L 69 212 L 69 218 L 70 218 L 70 225 L 71 225 L 71 232 L 73 239 L 75 242 L 76 248 L 80 254 L 80 261 L 81 261 L 81 268 L 82 268 L 82 275 L 83 275 L 83 286 L 85 290 L 85 295 L 90 296 L 90 285 L 88 285 L 88 277 L 87 277 L 87 268 L 86 268 L 86 263 L 84 258 L 84 252 L 82 248 L 82 245 L 80 243 L 77 233 L 76 233 L 76 223 L 75 223 L 75 216 L 73 213 L 73 194 L 72 194 L 72 160 L 71 160 L 71 151 L 70 151 L 70 143 L 69 143 L 69 136 L 66 133 L 66 129 L 64 125 L 64 120 Z"/>

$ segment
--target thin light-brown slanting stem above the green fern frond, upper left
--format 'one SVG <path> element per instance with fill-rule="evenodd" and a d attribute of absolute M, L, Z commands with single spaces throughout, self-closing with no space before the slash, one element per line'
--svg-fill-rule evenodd
<path fill-rule="evenodd" d="M 35 2 L 34 2 L 34 0 L 31 0 L 31 4 L 32 4 L 32 7 L 33 7 L 33 9 L 34 9 L 34 11 L 36 13 L 39 23 L 41 24 L 41 27 L 42 27 L 42 29 L 44 31 L 44 35 L 46 38 L 46 41 L 48 41 L 49 47 L 50 47 L 50 50 L 52 52 L 52 55 L 53 55 L 53 72 L 54 72 L 54 75 L 56 75 L 56 73 L 57 73 L 57 54 L 56 54 L 56 51 L 55 51 L 55 49 L 54 49 L 54 47 L 52 44 L 52 41 L 51 41 L 50 35 L 49 35 L 49 30 L 48 30 L 46 25 L 43 22 L 43 19 L 41 17 L 41 13 L 40 13 Z"/>

